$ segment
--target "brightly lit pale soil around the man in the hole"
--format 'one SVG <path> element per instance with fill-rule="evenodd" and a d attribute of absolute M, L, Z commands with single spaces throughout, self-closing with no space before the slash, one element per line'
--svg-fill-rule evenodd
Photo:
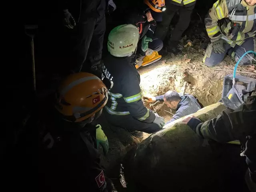
<path fill-rule="evenodd" d="M 200 47 L 186 48 L 177 56 L 163 58 L 159 62 L 139 68 L 142 95 L 159 96 L 168 90 L 182 92 L 184 82 L 188 82 L 186 93 L 198 98 L 203 106 L 214 104 L 222 96 L 223 78 L 232 74 L 235 62 L 226 58 L 222 64 L 210 68 L 202 63 L 204 50 Z M 254 66 L 239 66 L 237 74 L 256 78 Z M 175 111 L 164 103 L 147 103 L 145 105 L 160 114 L 166 121 Z"/>

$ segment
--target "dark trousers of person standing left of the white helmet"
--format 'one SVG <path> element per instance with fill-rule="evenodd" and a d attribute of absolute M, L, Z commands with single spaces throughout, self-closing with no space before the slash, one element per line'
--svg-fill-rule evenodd
<path fill-rule="evenodd" d="M 98 18 L 78 22 L 70 40 L 70 64 L 73 72 L 91 72 L 100 64 L 103 37 L 106 31 L 104 12 Z"/>

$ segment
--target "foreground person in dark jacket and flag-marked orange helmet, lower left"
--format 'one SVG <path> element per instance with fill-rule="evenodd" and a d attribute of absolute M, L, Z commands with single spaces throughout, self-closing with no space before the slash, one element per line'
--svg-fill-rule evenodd
<path fill-rule="evenodd" d="M 100 165 L 101 145 L 108 139 L 100 125 L 93 126 L 108 101 L 107 87 L 97 76 L 80 72 L 68 76 L 56 94 L 55 123 L 42 131 L 41 191 L 110 192 L 112 183 Z"/>

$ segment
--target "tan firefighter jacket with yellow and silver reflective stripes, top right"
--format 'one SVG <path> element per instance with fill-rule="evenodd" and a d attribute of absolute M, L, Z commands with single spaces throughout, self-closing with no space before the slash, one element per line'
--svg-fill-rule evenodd
<path fill-rule="evenodd" d="M 245 38 L 255 36 L 256 5 L 244 0 L 218 0 L 205 18 L 206 31 L 211 41 L 220 38 L 232 47 L 242 45 Z"/>

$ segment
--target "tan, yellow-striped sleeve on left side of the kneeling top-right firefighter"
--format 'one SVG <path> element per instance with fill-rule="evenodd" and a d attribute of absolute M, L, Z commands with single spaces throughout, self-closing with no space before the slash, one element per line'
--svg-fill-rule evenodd
<path fill-rule="evenodd" d="M 204 22 L 206 26 L 206 31 L 211 41 L 214 42 L 219 40 L 221 37 L 221 32 L 218 27 L 218 20 L 228 17 L 228 8 L 225 0 L 218 0 L 209 10 L 206 15 Z"/>

